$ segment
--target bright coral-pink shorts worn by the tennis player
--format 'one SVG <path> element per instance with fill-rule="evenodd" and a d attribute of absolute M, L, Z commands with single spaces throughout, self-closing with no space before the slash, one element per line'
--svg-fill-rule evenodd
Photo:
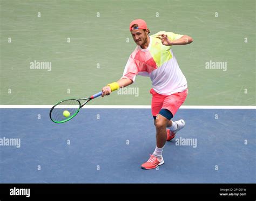
<path fill-rule="evenodd" d="M 151 110 L 153 116 L 157 116 L 161 109 L 168 109 L 174 116 L 186 100 L 188 89 L 171 95 L 158 94 L 154 89 L 151 89 L 150 93 L 152 94 Z"/>

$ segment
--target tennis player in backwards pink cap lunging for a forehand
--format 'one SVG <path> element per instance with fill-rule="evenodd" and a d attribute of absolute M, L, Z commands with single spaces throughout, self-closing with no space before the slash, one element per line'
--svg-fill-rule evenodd
<path fill-rule="evenodd" d="M 130 23 L 130 32 L 137 44 L 125 66 L 123 77 L 102 88 L 102 96 L 110 95 L 119 87 L 135 81 L 137 74 L 148 76 L 152 81 L 152 115 L 156 126 L 156 149 L 142 169 L 154 169 L 164 163 L 162 156 L 166 140 L 170 141 L 185 126 L 184 120 L 171 119 L 187 96 L 187 81 L 171 50 L 172 45 L 192 43 L 190 36 L 160 31 L 149 36 L 143 19 Z M 169 127 L 169 129 L 166 129 Z"/>

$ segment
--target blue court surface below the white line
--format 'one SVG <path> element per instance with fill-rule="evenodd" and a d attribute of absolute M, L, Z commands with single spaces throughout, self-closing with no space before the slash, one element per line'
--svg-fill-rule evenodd
<path fill-rule="evenodd" d="M 46 108 L 0 111 L 0 183 L 256 181 L 255 109 L 180 109 L 186 126 L 153 170 L 140 168 L 156 145 L 150 109 L 82 109 L 63 124 Z"/>

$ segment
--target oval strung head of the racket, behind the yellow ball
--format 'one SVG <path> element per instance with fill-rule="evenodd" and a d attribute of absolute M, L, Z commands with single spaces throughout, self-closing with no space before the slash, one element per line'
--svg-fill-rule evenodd
<path fill-rule="evenodd" d="M 74 117 L 80 108 L 77 100 L 65 100 L 56 105 L 51 111 L 51 119 L 56 123 L 62 123 Z M 65 111 L 65 113 L 64 113 Z M 68 112 L 66 112 L 68 111 Z"/>

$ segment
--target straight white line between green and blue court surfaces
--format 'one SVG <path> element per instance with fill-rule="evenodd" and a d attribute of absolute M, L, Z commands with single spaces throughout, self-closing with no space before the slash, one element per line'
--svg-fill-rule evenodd
<path fill-rule="evenodd" d="M 0 108 L 51 108 L 52 105 L 0 105 Z M 85 105 L 83 108 L 90 109 L 151 109 L 151 106 L 133 105 Z M 181 106 L 180 109 L 256 109 L 256 106 Z"/>

